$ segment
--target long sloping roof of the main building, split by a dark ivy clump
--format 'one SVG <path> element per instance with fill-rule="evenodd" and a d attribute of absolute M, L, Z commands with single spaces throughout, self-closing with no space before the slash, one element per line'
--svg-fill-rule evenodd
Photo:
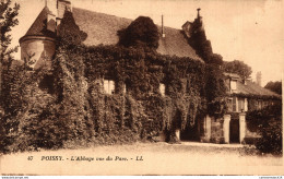
<path fill-rule="evenodd" d="M 85 45 L 116 45 L 118 43 L 117 32 L 126 28 L 132 22 L 132 20 L 129 19 L 79 8 L 73 8 L 72 12 L 80 29 L 87 33 L 87 38 L 84 41 Z M 158 29 L 161 32 L 159 26 Z M 161 37 L 157 52 L 201 60 L 196 53 L 196 50 L 187 43 L 187 39 L 180 29 L 170 27 L 165 27 L 164 29 L 166 37 Z"/>

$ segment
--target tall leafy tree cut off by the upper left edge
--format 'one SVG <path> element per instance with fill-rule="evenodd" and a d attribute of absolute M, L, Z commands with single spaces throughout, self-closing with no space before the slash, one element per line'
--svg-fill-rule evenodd
<path fill-rule="evenodd" d="M 17 47 L 9 48 L 12 41 L 12 27 L 19 24 L 16 19 L 20 10 L 20 4 L 15 3 L 11 8 L 11 0 L 0 2 L 0 95 L 2 88 L 2 69 L 3 65 L 11 63 L 11 53 L 15 52 Z"/>

